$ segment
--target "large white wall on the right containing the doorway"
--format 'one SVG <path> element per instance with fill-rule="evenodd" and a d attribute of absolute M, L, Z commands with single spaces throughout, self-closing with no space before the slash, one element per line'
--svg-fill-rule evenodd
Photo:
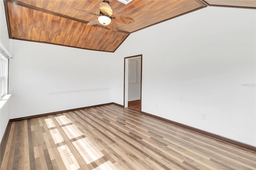
<path fill-rule="evenodd" d="M 123 58 L 142 54 L 142 111 L 256 146 L 255 47 L 250 9 L 207 7 L 135 32 L 114 53 L 114 102 Z"/>

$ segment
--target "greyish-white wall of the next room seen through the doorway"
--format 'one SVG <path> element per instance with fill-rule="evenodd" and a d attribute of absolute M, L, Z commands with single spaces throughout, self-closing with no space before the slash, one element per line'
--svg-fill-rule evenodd
<path fill-rule="evenodd" d="M 136 83 L 130 83 L 130 79 L 128 80 L 128 101 L 134 101 L 134 100 L 140 100 L 140 73 L 141 73 L 141 57 L 139 58 L 132 58 L 129 59 L 128 61 L 130 62 L 131 60 L 137 61 L 137 81 Z M 131 68 L 129 65 L 129 70 L 130 69 L 136 69 L 136 68 Z M 129 76 L 130 78 L 130 76 Z"/>

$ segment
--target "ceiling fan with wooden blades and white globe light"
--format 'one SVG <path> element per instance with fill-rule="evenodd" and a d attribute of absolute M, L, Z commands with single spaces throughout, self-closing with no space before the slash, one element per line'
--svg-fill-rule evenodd
<path fill-rule="evenodd" d="M 76 9 L 76 8 L 74 8 Z M 92 20 L 87 23 L 88 26 L 96 25 L 98 22 L 102 24 L 103 26 L 107 26 L 111 31 L 118 31 L 119 24 L 131 24 L 134 22 L 134 20 L 130 16 L 126 15 L 115 15 L 113 16 L 113 11 L 111 7 L 109 6 L 108 0 L 103 0 L 103 2 L 100 3 L 100 14 L 95 14 L 94 12 L 85 11 L 76 9 L 78 11 L 86 12 L 91 15 L 99 16 L 98 20 Z"/>

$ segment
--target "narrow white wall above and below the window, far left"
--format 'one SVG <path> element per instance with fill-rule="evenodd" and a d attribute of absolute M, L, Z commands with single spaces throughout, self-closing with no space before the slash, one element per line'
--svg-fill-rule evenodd
<path fill-rule="evenodd" d="M 5 18 L 4 2 L 0 0 L 0 42 L 9 51 L 9 36 Z M 0 141 L 9 121 L 9 101 L 0 101 Z"/>

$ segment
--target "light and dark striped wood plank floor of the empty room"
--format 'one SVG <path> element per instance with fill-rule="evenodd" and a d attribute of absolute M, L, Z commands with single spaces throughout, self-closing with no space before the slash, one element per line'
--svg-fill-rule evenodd
<path fill-rule="evenodd" d="M 256 169 L 256 152 L 106 105 L 12 122 L 6 169 Z"/>

